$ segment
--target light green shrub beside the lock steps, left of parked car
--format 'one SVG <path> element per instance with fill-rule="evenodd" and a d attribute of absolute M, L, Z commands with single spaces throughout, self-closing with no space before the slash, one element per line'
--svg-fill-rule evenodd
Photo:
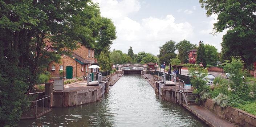
<path fill-rule="evenodd" d="M 198 93 L 203 91 L 207 81 L 205 80 L 208 75 L 208 70 L 202 67 L 188 68 L 188 75 L 191 77 L 191 84 L 198 90 Z"/>

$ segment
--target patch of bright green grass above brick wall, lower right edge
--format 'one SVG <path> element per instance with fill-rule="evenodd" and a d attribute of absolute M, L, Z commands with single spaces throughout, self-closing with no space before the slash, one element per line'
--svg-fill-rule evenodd
<path fill-rule="evenodd" d="M 252 115 L 256 115 L 256 102 L 245 102 L 245 104 L 240 104 L 237 106 L 240 110 L 246 111 Z"/>

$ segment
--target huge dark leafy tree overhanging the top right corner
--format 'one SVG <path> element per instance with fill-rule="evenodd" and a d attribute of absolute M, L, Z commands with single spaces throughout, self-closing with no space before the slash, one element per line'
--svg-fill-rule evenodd
<path fill-rule="evenodd" d="M 207 16 L 218 15 L 214 24 L 215 32 L 227 33 L 222 40 L 222 59 L 229 60 L 230 56 L 241 56 L 247 69 L 256 54 L 256 3 L 255 0 L 199 0 L 206 9 Z"/>

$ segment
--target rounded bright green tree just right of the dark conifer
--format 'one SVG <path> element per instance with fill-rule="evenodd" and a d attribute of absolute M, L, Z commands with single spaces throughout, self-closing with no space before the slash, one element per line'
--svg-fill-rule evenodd
<path fill-rule="evenodd" d="M 218 49 L 215 46 L 206 44 L 205 48 L 205 56 L 206 56 L 206 64 L 216 65 L 216 62 L 219 61 L 219 53 Z"/>

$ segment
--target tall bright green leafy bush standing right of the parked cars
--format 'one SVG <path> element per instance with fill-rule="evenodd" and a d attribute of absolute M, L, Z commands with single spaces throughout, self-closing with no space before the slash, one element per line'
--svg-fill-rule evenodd
<path fill-rule="evenodd" d="M 244 61 L 241 60 L 240 57 L 231 57 L 231 61 L 226 60 L 224 63 L 224 71 L 225 73 L 230 74 L 230 79 L 232 81 L 230 87 L 233 94 L 238 94 L 243 91 L 243 75 L 245 75 Z"/>

